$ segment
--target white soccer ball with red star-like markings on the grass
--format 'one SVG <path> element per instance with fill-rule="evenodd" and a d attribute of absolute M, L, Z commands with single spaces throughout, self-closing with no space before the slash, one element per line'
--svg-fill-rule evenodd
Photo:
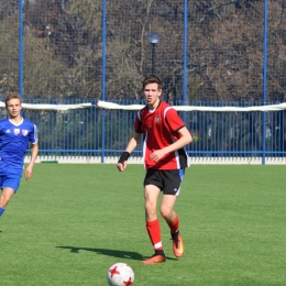
<path fill-rule="evenodd" d="M 108 270 L 107 279 L 110 286 L 130 286 L 134 282 L 134 272 L 127 263 L 118 262 Z"/>

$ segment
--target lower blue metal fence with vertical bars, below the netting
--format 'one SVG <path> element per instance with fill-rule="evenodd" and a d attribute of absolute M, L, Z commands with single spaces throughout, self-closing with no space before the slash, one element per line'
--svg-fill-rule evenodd
<path fill-rule="evenodd" d="M 32 120 L 38 128 L 41 156 L 114 157 L 125 148 L 132 136 L 136 111 L 102 110 L 96 107 L 95 101 L 88 99 L 65 100 L 61 103 L 84 102 L 91 102 L 92 106 L 68 111 L 23 110 L 23 117 Z M 113 102 L 144 103 L 142 100 L 113 100 Z M 31 99 L 29 103 L 55 103 L 55 100 Z M 231 101 L 188 103 L 205 107 L 260 106 L 260 102 L 250 105 L 250 102 Z M 173 102 L 173 105 L 182 105 L 182 102 Z M 286 155 L 285 111 L 190 111 L 179 112 L 179 114 L 185 118 L 186 127 L 194 138 L 194 142 L 187 146 L 191 157 L 285 157 Z M 266 117 L 265 135 L 264 116 Z M 132 156 L 142 156 L 142 142 Z"/>

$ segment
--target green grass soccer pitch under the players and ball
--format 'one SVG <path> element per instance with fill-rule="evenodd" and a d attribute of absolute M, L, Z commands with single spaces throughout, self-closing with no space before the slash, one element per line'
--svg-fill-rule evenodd
<path fill-rule="evenodd" d="M 193 165 L 176 211 L 186 253 L 153 254 L 144 221 L 142 165 L 36 164 L 0 218 L 0 284 L 108 285 L 125 262 L 139 286 L 286 285 L 285 166 Z"/>

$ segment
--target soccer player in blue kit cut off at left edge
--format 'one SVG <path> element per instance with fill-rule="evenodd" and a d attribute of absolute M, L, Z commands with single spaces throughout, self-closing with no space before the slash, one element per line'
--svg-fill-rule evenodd
<path fill-rule="evenodd" d="M 6 98 L 8 119 L 0 120 L 0 217 L 11 197 L 19 189 L 24 169 L 24 156 L 29 142 L 31 161 L 24 170 L 25 179 L 30 179 L 38 152 L 36 125 L 21 117 L 21 97 L 9 94 Z"/>

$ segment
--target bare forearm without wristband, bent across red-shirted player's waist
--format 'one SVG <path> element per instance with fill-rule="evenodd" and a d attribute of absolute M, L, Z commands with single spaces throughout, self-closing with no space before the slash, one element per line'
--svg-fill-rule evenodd
<path fill-rule="evenodd" d="M 187 144 L 191 143 L 193 138 L 186 127 L 178 130 L 178 133 L 180 134 L 180 139 L 178 141 L 174 142 L 173 144 L 170 144 L 162 150 L 154 151 L 150 155 L 150 157 L 153 161 L 157 162 L 161 158 L 163 158 L 165 155 L 167 155 L 168 153 L 177 151 L 177 150 L 186 146 Z"/>

